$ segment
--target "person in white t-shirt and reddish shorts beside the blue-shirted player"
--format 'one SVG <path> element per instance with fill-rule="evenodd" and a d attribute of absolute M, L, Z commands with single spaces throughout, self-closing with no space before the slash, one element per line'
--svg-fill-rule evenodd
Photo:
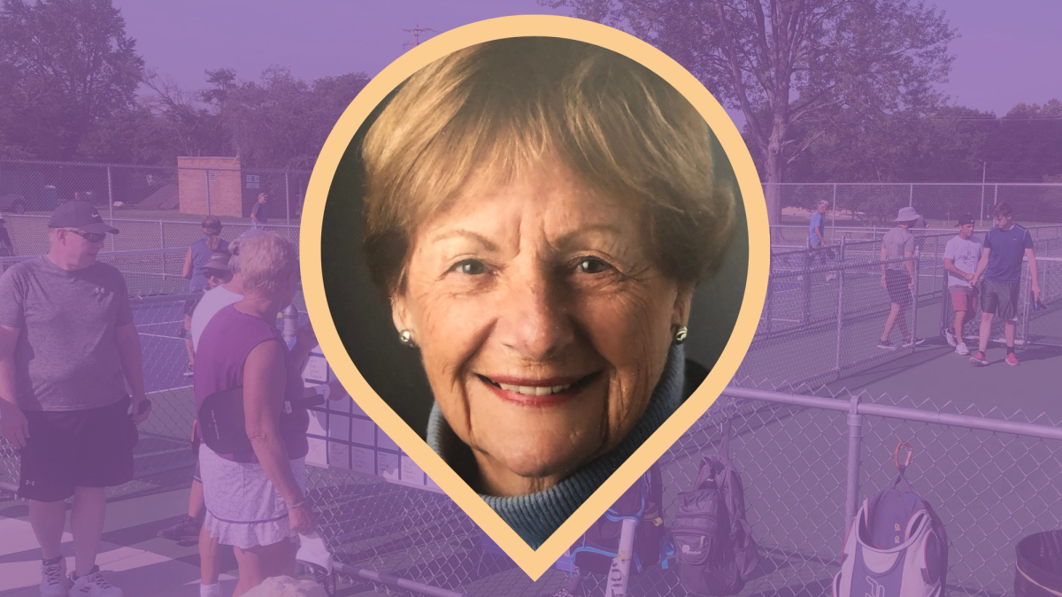
<path fill-rule="evenodd" d="M 974 273 L 977 262 L 984 249 L 979 238 L 974 234 L 974 217 L 964 215 L 956 224 L 959 234 L 944 245 L 944 269 L 947 270 L 947 289 L 952 295 L 952 307 L 955 309 L 955 321 L 944 330 L 947 343 L 960 355 L 969 355 L 970 349 L 962 338 L 963 327 L 977 313 L 977 287 Z"/>

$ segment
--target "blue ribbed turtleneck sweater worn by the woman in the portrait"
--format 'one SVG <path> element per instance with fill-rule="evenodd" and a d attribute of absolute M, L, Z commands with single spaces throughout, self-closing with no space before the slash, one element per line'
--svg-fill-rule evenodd
<path fill-rule="evenodd" d="M 616 447 L 548 490 L 517 497 L 490 495 L 480 497 L 524 541 L 528 542 L 532 549 L 537 549 L 678 410 L 686 398 L 683 391 L 684 383 L 685 352 L 682 345 L 672 344 L 668 352 L 667 363 L 664 365 L 664 373 L 653 390 L 645 414 Z M 442 411 L 439 410 L 438 403 L 432 406 L 431 416 L 428 420 L 428 445 L 450 465 L 457 464 L 460 460 L 467 462 L 468 459 L 473 459 L 470 448 L 450 429 Z M 461 470 L 458 468 L 458 472 Z"/>

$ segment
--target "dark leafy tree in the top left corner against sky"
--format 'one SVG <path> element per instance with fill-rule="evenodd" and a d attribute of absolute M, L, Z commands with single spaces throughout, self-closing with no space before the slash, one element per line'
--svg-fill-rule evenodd
<path fill-rule="evenodd" d="M 0 146 L 78 157 L 93 126 L 134 105 L 143 69 L 135 46 L 110 0 L 4 0 L 0 87 L 11 104 Z"/>

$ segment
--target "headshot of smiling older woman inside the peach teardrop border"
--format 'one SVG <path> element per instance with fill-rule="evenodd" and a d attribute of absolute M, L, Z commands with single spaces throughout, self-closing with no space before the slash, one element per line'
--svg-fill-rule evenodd
<path fill-rule="evenodd" d="M 358 372 L 532 548 L 705 379 L 749 235 L 704 117 L 612 50 L 418 70 L 332 177 L 322 275 Z"/>

